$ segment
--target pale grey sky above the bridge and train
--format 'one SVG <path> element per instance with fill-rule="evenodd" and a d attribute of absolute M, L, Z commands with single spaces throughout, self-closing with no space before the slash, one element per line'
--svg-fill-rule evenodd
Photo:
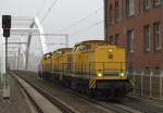
<path fill-rule="evenodd" d="M 15 16 L 35 16 L 45 0 L 1 0 L 1 14 Z M 46 0 L 38 17 L 40 21 L 54 0 Z M 98 10 L 100 9 L 100 10 Z M 95 12 L 98 10 L 97 12 Z M 93 13 L 92 13 L 93 12 Z M 74 27 L 68 25 L 91 13 L 87 20 Z M 70 35 L 70 46 L 86 39 L 103 39 L 103 0 L 59 0 L 41 23 L 45 33 L 66 33 Z M 101 23 L 100 23 L 101 22 Z M 63 29 L 64 30 L 60 30 Z M 60 37 L 58 37 L 60 38 Z M 57 41 L 54 37 L 47 37 L 47 41 Z M 58 46 L 59 48 L 60 46 Z M 50 46 L 49 51 L 55 46 Z"/>

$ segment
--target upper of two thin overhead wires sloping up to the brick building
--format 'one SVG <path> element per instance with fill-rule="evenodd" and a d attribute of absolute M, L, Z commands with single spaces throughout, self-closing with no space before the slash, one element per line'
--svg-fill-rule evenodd
<path fill-rule="evenodd" d="M 67 29 L 70 29 L 70 28 L 72 28 L 72 27 L 78 25 L 79 23 L 86 21 L 87 18 L 89 18 L 89 17 L 92 16 L 93 14 L 97 14 L 98 12 L 100 12 L 102 9 L 103 9 L 103 7 L 101 7 L 100 9 L 98 9 L 98 10 L 91 12 L 91 13 L 89 13 L 87 16 L 85 16 L 85 17 L 83 17 L 83 18 L 76 21 L 76 22 L 74 22 L 73 24 L 71 24 L 71 25 L 68 25 L 68 26 L 66 26 L 66 27 L 64 27 L 64 28 L 62 28 L 62 29 L 60 29 L 60 30 L 58 30 L 58 32 L 59 32 L 59 33 L 65 32 L 65 30 L 67 30 Z"/>

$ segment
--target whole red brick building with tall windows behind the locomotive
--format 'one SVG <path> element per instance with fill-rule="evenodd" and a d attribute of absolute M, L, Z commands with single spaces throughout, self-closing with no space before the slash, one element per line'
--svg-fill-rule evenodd
<path fill-rule="evenodd" d="M 163 0 L 104 0 L 105 40 L 135 70 L 163 70 Z"/>

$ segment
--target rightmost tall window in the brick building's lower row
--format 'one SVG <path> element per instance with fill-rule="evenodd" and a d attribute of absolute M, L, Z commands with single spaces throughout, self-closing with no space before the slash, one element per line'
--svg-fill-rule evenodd
<path fill-rule="evenodd" d="M 161 50 L 161 24 L 154 23 L 154 39 L 156 50 Z"/>

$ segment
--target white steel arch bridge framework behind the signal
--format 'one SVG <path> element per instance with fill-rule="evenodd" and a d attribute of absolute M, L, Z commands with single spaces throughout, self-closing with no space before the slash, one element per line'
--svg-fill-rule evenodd
<path fill-rule="evenodd" d="M 24 27 L 20 27 L 17 23 L 21 23 L 21 25 L 24 25 Z M 26 26 L 26 27 L 25 27 Z M 0 36 L 0 52 L 2 53 L 0 56 L 1 61 L 1 73 L 5 73 L 5 55 L 4 55 L 4 38 L 2 36 L 2 28 L 0 28 L 1 36 Z M 11 25 L 11 36 L 13 35 L 20 35 L 22 36 L 21 41 L 9 41 L 10 45 L 18 45 L 22 46 L 23 51 L 23 65 L 25 70 L 28 67 L 28 54 L 29 54 L 29 47 L 33 35 L 38 35 L 41 41 L 41 51 L 42 53 L 47 52 L 47 45 L 46 45 L 46 38 L 43 36 L 43 29 L 41 24 L 39 23 L 38 17 L 27 17 L 27 16 L 12 16 L 12 25 Z M 25 42 L 23 39 L 23 36 L 27 36 L 27 41 Z M 12 39 L 12 37 L 10 38 Z"/>

